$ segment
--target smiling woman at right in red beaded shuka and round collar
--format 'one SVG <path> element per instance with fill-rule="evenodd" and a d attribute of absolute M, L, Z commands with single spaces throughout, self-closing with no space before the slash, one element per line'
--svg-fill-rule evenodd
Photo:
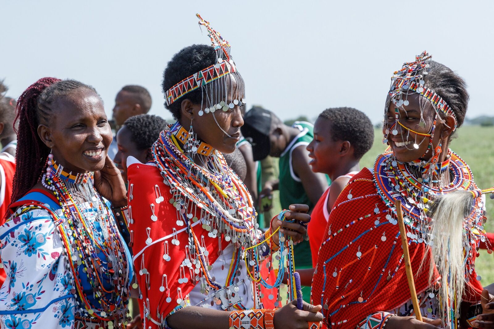
<path fill-rule="evenodd" d="M 328 327 L 493 328 L 493 296 L 474 264 L 485 240 L 482 197 L 460 225 L 429 211 L 437 195 L 478 195 L 470 168 L 448 147 L 467 103 L 463 79 L 426 52 L 394 73 L 383 125 L 390 150 L 343 189 L 319 251 L 311 300 L 323 305 Z M 405 215 L 424 322 L 413 317 L 395 200 Z"/>

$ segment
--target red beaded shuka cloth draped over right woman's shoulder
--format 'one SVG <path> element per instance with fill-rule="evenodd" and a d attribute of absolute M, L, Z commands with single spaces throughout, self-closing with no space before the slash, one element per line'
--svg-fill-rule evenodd
<path fill-rule="evenodd" d="M 353 197 L 349 200 L 350 189 Z M 376 206 L 378 214 L 374 212 Z M 411 298 L 399 227 L 389 223 L 386 214 L 387 208 L 377 195 L 367 168 L 350 180 L 335 202 L 329 215 L 331 235 L 326 230 L 311 292 L 312 304 L 323 305 L 325 322 L 331 328 L 355 328 L 368 315 L 395 309 Z M 384 224 L 375 227 L 378 217 Z M 381 240 L 383 233 L 385 241 Z M 429 287 L 427 259 L 418 272 L 422 259 L 428 258 L 429 253 L 424 243 L 411 243 L 410 239 L 409 250 L 418 294 Z M 392 278 L 388 281 L 389 274 Z M 476 302 L 480 298 L 482 286 L 476 276 L 475 271 L 469 275 L 473 289 L 465 290 L 465 301 Z M 358 302 L 361 295 L 364 301 Z"/>

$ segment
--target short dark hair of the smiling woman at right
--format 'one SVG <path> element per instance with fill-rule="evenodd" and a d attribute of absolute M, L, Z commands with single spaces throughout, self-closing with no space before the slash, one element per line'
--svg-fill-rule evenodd
<path fill-rule="evenodd" d="M 423 77 L 424 85 L 448 103 L 456 116 L 456 127 L 460 127 L 465 120 L 470 99 L 465 80 L 441 63 L 429 60 L 427 64 L 430 65 L 430 71 Z"/>

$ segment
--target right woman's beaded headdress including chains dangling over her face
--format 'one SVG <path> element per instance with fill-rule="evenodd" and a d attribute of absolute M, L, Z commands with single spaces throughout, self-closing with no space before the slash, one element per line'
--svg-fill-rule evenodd
<path fill-rule="evenodd" d="M 403 131 L 406 131 L 407 135 L 410 135 L 410 132 L 415 134 L 415 143 L 412 145 L 414 148 L 418 148 L 419 145 L 423 141 L 425 141 L 427 137 L 430 137 L 429 147 L 427 148 L 427 152 L 429 152 L 432 149 L 432 139 L 434 137 L 434 130 L 437 120 L 441 121 L 441 123 L 443 124 L 445 124 L 446 122 L 441 115 L 452 115 L 456 119 L 454 111 L 450 108 L 446 101 L 432 89 L 427 88 L 427 86 L 425 85 L 424 76 L 427 75 L 431 70 L 430 65 L 427 62 L 431 58 L 432 55 L 429 55 L 429 53 L 424 50 L 420 55 L 415 56 L 415 61 L 405 62 L 400 70 L 393 73 L 384 111 L 387 112 L 391 102 L 395 105 L 395 123 L 391 127 L 388 127 L 387 119 L 385 119 L 384 126 L 386 129 L 383 139 L 384 144 L 388 142 L 389 134 L 398 135 L 397 128 L 398 126 L 401 126 L 402 135 Z M 436 112 L 434 122 L 427 134 L 413 131 L 405 127 L 400 122 L 399 109 L 402 108 L 403 110 L 405 110 L 404 106 L 408 106 L 409 104 L 408 96 L 415 93 L 420 96 L 421 100 L 430 102 Z M 421 101 L 419 126 L 422 128 L 425 127 L 425 120 L 423 117 L 424 105 L 425 102 Z M 456 126 L 453 129 L 455 128 Z M 405 142 L 407 138 L 404 136 L 402 137 Z M 422 140 L 419 142 L 417 139 L 420 137 L 422 137 Z M 437 152 L 432 149 L 432 154 L 435 155 L 435 153 L 437 154 Z"/>

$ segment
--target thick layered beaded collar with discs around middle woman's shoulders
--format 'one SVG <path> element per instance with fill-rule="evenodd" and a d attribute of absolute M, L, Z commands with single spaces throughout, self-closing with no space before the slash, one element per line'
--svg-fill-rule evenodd
<path fill-rule="evenodd" d="M 251 246 L 259 236 L 256 236 L 256 212 L 247 188 L 220 152 L 212 149 L 203 167 L 185 155 L 175 139 L 181 128 L 176 122 L 169 131 L 160 134 L 152 147 L 154 162 L 164 183 L 171 188 L 170 203 L 177 210 L 199 210 L 209 231 L 225 234 L 227 241 Z"/>

